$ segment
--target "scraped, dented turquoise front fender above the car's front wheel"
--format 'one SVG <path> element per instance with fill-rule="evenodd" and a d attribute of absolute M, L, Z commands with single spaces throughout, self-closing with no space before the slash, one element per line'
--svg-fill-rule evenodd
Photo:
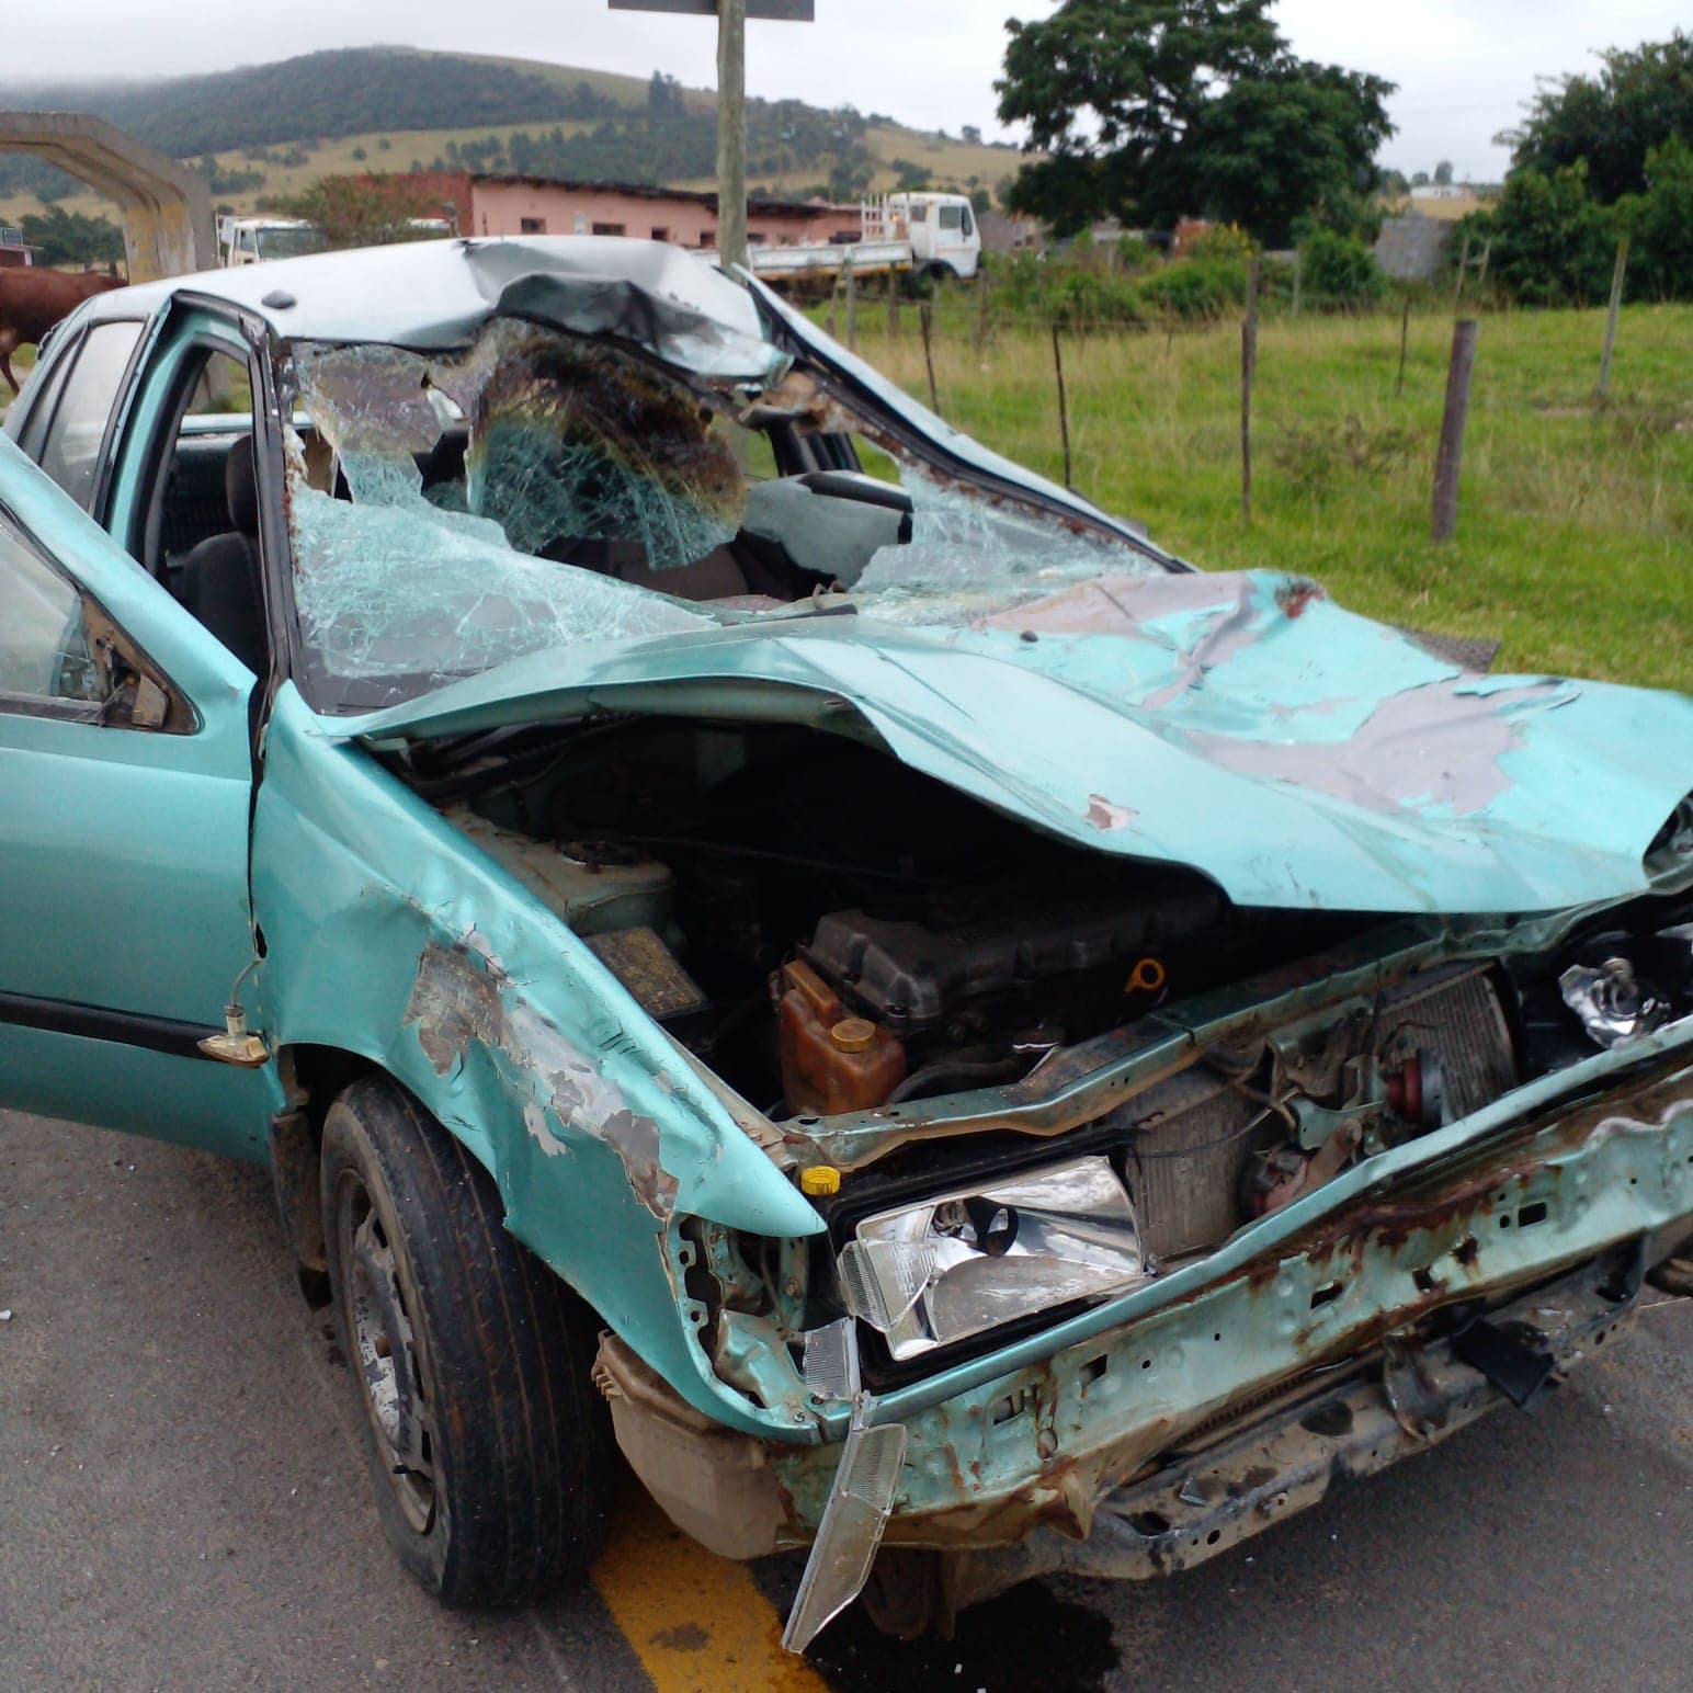
<path fill-rule="evenodd" d="M 379 1065 L 489 1170 L 506 1227 L 691 1403 L 804 1437 L 713 1373 L 674 1231 L 698 1216 L 792 1238 L 821 1229 L 816 1210 L 599 958 L 291 686 L 252 897 L 273 1048 Z"/>

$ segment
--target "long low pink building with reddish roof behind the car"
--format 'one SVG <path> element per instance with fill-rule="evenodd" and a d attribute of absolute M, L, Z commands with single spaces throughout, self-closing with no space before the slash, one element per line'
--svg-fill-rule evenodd
<path fill-rule="evenodd" d="M 425 217 L 452 217 L 462 235 L 633 235 L 681 247 L 718 244 L 718 196 L 640 183 L 572 183 L 552 176 L 413 171 L 366 178 L 416 190 Z M 789 247 L 858 232 L 858 207 L 811 200 L 748 200 L 747 239 Z"/>

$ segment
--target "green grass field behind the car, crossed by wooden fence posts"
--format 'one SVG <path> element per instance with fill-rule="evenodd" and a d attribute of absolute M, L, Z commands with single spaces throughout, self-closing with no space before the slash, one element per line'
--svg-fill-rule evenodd
<path fill-rule="evenodd" d="M 975 301 L 936 305 L 941 411 L 1063 479 L 1050 334 Z M 916 313 L 897 340 L 860 310 L 860 352 L 928 400 Z M 1207 569 L 1322 581 L 1375 618 L 1503 642 L 1495 669 L 1693 692 L 1693 306 L 1629 306 L 1610 405 L 1595 408 L 1602 312 L 1481 323 L 1458 537 L 1429 540 L 1451 318 L 1265 322 L 1253 401 L 1253 516 L 1241 516 L 1239 325 L 1065 335 L 1077 489 Z"/>

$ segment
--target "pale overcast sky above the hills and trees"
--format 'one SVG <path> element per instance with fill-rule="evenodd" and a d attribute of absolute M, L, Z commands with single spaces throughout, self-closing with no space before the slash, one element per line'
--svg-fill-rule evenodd
<path fill-rule="evenodd" d="M 17 0 L 7 7 L 14 12 Z M 1051 0 L 816 0 L 814 24 L 753 24 L 755 95 L 852 103 L 919 129 L 984 134 L 1009 15 L 1045 17 Z M 281 59 L 315 47 L 400 42 L 508 52 L 560 64 L 714 81 L 709 19 L 608 12 L 604 0 L 24 0 L 8 78 L 156 76 Z M 1388 164 L 1459 176 L 1503 173 L 1492 137 L 1512 125 L 1537 76 L 1580 71 L 1607 46 L 1663 41 L 1688 0 L 1282 0 L 1282 32 L 1309 59 L 1375 71 L 1400 85 Z M 14 12 L 15 17 L 15 12 Z"/>

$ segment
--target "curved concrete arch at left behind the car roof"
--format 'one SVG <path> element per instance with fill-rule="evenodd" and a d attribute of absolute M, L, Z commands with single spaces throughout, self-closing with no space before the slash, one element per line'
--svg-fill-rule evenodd
<path fill-rule="evenodd" d="M 85 112 L 0 112 L 0 152 L 29 152 L 115 200 L 129 278 L 149 283 L 217 264 L 205 179 Z"/>

